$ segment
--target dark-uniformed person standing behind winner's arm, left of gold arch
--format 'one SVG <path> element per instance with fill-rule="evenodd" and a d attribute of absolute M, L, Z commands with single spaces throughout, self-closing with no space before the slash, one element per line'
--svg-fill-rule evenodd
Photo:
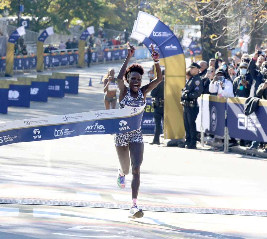
<path fill-rule="evenodd" d="M 163 122 L 164 119 L 164 73 L 165 70 L 162 70 L 163 81 L 161 81 L 156 88 L 154 88 L 150 95 L 152 98 L 152 105 L 154 108 L 153 116 L 155 121 L 155 131 L 154 131 L 154 138 L 150 144 L 160 144 L 160 126 L 161 126 L 161 119 Z"/>

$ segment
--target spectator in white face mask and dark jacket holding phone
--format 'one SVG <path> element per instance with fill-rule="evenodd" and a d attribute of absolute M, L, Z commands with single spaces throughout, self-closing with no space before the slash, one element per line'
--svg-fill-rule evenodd
<path fill-rule="evenodd" d="M 241 62 L 239 64 L 239 76 L 233 81 L 233 93 L 235 97 L 249 97 L 252 77 L 247 71 L 247 63 Z"/>

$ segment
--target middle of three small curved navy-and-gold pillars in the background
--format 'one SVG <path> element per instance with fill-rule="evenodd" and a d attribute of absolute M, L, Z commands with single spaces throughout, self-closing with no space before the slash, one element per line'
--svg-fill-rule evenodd
<path fill-rule="evenodd" d="M 43 64 L 44 64 L 44 58 L 43 58 L 44 42 L 45 42 L 45 39 L 52 34 L 54 34 L 54 30 L 53 30 L 53 27 L 50 26 L 47 29 L 45 29 L 38 37 L 37 49 L 36 49 L 36 56 L 37 56 L 36 70 L 37 70 L 37 72 L 41 72 L 44 69 L 44 67 L 43 67 Z"/>

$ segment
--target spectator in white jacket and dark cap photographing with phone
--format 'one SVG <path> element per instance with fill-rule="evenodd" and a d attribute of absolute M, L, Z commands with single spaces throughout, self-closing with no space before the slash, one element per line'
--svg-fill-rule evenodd
<path fill-rule="evenodd" d="M 225 78 L 225 72 L 223 69 L 218 68 L 215 71 L 215 76 L 209 84 L 209 92 L 217 93 L 219 98 L 235 97 L 233 94 L 233 85 L 230 80 Z"/>

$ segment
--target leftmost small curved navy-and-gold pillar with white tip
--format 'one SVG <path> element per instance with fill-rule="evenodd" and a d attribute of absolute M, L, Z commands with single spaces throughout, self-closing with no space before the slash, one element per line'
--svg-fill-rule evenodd
<path fill-rule="evenodd" d="M 13 75 L 13 66 L 14 66 L 14 49 L 15 43 L 19 37 L 25 35 L 24 26 L 18 27 L 9 37 L 7 42 L 7 55 L 6 55 L 6 69 L 5 76 Z"/>

